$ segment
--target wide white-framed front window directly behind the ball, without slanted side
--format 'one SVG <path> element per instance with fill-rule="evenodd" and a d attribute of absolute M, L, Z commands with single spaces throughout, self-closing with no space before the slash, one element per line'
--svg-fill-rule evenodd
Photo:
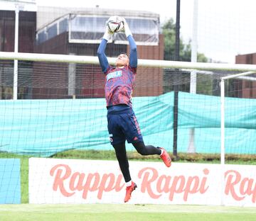
<path fill-rule="evenodd" d="M 70 42 L 100 42 L 108 16 L 71 16 Z M 126 18 L 137 45 L 158 45 L 159 18 Z M 128 44 L 124 33 L 114 34 L 115 44 Z"/>

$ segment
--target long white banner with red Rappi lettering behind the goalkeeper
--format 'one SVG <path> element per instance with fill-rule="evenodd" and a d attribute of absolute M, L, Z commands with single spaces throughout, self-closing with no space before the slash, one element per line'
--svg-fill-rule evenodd
<path fill-rule="evenodd" d="M 129 169 L 138 186 L 132 204 L 256 205 L 256 166 L 129 162 Z M 117 161 L 29 159 L 29 203 L 124 203 L 125 188 Z"/>

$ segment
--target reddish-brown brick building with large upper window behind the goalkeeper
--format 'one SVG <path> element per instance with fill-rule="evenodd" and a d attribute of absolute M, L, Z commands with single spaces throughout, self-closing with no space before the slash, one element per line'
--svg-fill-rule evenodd
<path fill-rule="evenodd" d="M 159 15 L 145 11 L 110 10 L 104 8 L 52 8 L 38 7 L 36 46 L 34 52 L 63 55 L 97 56 L 97 47 L 105 32 L 105 22 L 112 15 L 124 16 L 129 23 L 134 39 L 137 42 L 140 59 L 164 59 L 164 38 L 159 33 Z M 47 19 L 46 19 L 47 18 Z M 106 55 L 117 57 L 120 52 L 128 52 L 129 46 L 123 33 L 114 35 L 107 45 Z M 68 66 L 67 66 L 68 65 Z M 33 94 L 66 94 L 68 96 L 104 97 L 104 76 L 99 65 L 67 64 L 61 65 L 62 71 L 54 73 L 62 85 L 67 88 L 38 89 Z M 93 68 L 92 68 L 93 67 Z M 50 67 L 49 67 L 50 68 Z M 68 78 L 63 79 L 63 73 Z M 42 79 L 35 72 L 33 77 Z M 41 73 L 42 74 L 42 73 Z M 46 75 L 52 76 L 49 71 Z M 157 96 L 163 93 L 161 69 L 139 68 L 137 72 L 134 96 Z M 152 82 L 154 79 L 154 82 Z M 44 79 L 48 84 L 48 78 Z M 42 84 L 42 82 L 41 82 Z M 39 91 L 41 91 L 39 93 Z"/>

